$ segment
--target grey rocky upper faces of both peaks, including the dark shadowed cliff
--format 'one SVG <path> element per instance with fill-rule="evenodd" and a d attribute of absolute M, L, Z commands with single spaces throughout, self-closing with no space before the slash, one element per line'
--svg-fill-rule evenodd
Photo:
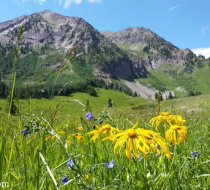
<path fill-rule="evenodd" d="M 0 23 L 2 46 L 14 46 L 21 25 L 24 25 L 25 31 L 20 43 L 25 40 L 26 47 L 39 49 L 48 46 L 66 52 L 81 40 L 78 52 L 84 54 L 79 64 L 87 62 L 92 67 L 92 74 L 104 80 L 112 77 L 125 80 L 145 77 L 148 69 L 157 69 L 163 63 L 177 64 L 195 56 L 189 49 L 180 50 L 145 28 L 99 33 L 82 18 L 67 17 L 51 11 Z M 144 58 L 139 57 L 115 43 L 137 44 L 148 54 Z"/>

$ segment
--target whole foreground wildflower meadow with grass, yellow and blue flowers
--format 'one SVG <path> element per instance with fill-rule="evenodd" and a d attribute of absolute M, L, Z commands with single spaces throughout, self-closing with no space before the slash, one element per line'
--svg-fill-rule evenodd
<path fill-rule="evenodd" d="M 9 189 L 208 189 L 209 95 L 159 98 L 132 111 L 99 105 L 97 112 L 89 101 L 66 97 L 80 108 L 77 119 L 65 118 L 62 107 L 58 114 L 59 103 L 35 114 L 27 100 L 27 112 L 19 105 L 11 115 L 20 48 L 17 43 L 9 113 L 1 111 L 0 182 Z"/>

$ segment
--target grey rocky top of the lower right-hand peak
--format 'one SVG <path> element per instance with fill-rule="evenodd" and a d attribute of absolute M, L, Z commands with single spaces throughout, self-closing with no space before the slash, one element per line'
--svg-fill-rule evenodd
<path fill-rule="evenodd" d="M 160 64 L 177 64 L 188 58 L 196 57 L 189 49 L 181 50 L 164 40 L 149 29 L 142 27 L 127 28 L 118 32 L 101 32 L 110 41 L 117 44 L 136 44 L 142 47 L 143 52 L 153 53 L 155 56 L 146 56 L 144 58 L 147 69 L 157 69 Z M 132 51 L 133 49 L 130 48 Z"/>

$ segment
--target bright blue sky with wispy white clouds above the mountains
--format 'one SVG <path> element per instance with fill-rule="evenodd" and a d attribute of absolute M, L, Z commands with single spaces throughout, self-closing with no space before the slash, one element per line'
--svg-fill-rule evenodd
<path fill-rule="evenodd" d="M 144 27 L 210 57 L 209 0 L 0 0 L 0 22 L 50 10 L 82 17 L 98 31 Z"/>

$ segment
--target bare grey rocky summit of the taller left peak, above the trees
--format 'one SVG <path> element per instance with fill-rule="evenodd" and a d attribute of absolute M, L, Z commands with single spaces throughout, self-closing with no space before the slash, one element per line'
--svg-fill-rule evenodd
<path fill-rule="evenodd" d="M 44 11 L 1 23 L 1 44 L 14 43 L 15 34 L 21 25 L 24 25 L 25 29 L 21 40 L 25 40 L 25 44 L 29 47 L 43 46 L 48 43 L 55 48 L 63 47 L 67 50 L 80 40 L 83 40 L 86 45 L 101 36 L 82 18 L 66 17 Z"/>

